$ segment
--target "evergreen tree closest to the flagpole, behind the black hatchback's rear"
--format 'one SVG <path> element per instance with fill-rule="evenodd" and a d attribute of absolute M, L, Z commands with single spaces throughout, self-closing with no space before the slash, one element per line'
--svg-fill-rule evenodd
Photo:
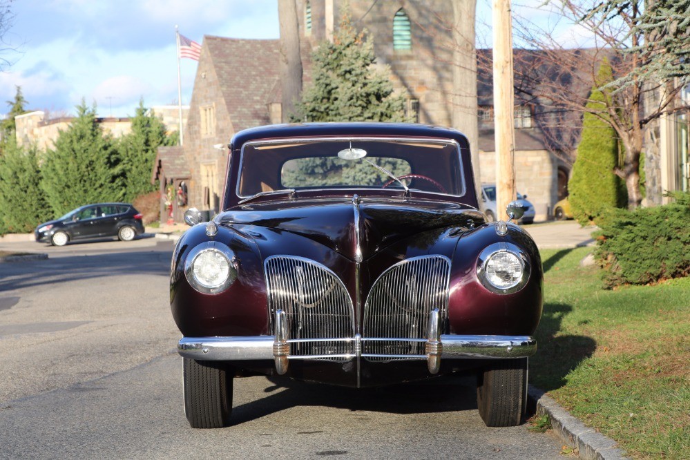
<path fill-rule="evenodd" d="M 136 115 L 132 118 L 131 133 L 122 137 L 117 144 L 126 181 L 124 200 L 133 201 L 139 195 L 157 190 L 151 184 L 156 150 L 160 145 L 173 145 L 170 142 L 162 120 L 148 111 L 144 101 L 140 100 Z"/>

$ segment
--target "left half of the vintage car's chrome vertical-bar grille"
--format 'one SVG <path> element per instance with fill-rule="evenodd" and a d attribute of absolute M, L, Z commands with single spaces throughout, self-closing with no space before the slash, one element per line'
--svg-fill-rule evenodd
<path fill-rule="evenodd" d="M 296 256 L 271 256 L 264 269 L 271 330 L 276 310 L 282 309 L 290 358 L 345 361 L 354 356 L 354 308 L 336 274 Z"/>

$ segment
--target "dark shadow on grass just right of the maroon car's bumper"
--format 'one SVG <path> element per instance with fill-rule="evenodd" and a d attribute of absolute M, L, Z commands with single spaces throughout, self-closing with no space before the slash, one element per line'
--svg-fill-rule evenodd
<path fill-rule="evenodd" d="M 597 349 L 597 343 L 591 337 L 559 335 L 563 318 L 572 310 L 571 305 L 562 303 L 544 305 L 542 320 L 535 334 L 537 354 L 530 358 L 530 382 L 546 392 L 564 386 L 568 373 Z"/>

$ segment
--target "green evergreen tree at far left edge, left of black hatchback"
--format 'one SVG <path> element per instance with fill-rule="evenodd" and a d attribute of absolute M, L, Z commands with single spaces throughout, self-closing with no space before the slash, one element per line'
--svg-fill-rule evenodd
<path fill-rule="evenodd" d="M 52 218 L 41 189 L 36 148 L 23 151 L 10 138 L 0 155 L 0 234 L 32 231 Z"/>

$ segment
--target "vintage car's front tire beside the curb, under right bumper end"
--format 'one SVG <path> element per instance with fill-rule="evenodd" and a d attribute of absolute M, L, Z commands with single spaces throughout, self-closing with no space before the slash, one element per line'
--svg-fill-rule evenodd
<path fill-rule="evenodd" d="M 527 408 L 527 358 L 498 361 L 477 375 L 477 408 L 486 426 L 519 425 Z"/>

